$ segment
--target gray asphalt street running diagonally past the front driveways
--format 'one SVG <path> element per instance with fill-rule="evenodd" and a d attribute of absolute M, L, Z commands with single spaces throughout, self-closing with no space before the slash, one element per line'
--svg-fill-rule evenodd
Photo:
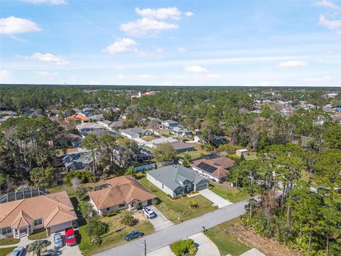
<path fill-rule="evenodd" d="M 141 256 L 144 255 L 144 240 L 146 240 L 147 253 L 158 250 L 161 247 L 170 245 L 173 242 L 187 238 L 190 235 L 202 231 L 202 226 L 212 228 L 215 225 L 227 220 L 237 218 L 244 214 L 245 201 L 220 208 L 210 213 L 206 213 L 197 218 L 187 220 L 178 225 L 173 225 L 151 235 L 133 240 L 124 245 L 119 245 L 109 250 L 99 252 L 97 256 Z"/>

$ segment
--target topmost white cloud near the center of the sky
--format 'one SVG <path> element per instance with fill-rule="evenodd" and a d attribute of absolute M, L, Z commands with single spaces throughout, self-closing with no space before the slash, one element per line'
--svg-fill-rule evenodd
<path fill-rule="evenodd" d="M 156 18 L 159 20 L 172 18 L 175 20 L 180 20 L 181 11 L 176 7 L 159 8 L 159 9 L 139 9 L 135 8 L 136 14 L 147 18 Z"/>

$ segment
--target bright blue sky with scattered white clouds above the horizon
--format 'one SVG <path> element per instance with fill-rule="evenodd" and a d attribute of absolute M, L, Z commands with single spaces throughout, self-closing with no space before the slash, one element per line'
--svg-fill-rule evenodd
<path fill-rule="evenodd" d="M 0 83 L 341 86 L 341 0 L 0 0 Z"/>

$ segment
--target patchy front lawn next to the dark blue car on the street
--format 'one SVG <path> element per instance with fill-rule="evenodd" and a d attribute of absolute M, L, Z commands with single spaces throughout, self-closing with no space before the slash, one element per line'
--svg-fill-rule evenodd
<path fill-rule="evenodd" d="M 116 216 L 112 217 L 101 217 L 99 220 L 109 223 L 110 230 L 107 234 L 102 235 L 102 244 L 98 247 L 95 245 L 91 245 L 89 242 L 89 226 L 82 225 L 80 229 L 77 231 L 76 236 L 78 238 L 78 244 L 80 246 L 80 250 L 82 251 L 82 255 L 93 255 L 97 252 L 102 252 L 103 250 L 107 250 L 109 248 L 115 247 L 117 245 L 121 245 L 126 240 L 124 240 L 125 236 L 131 233 L 133 230 L 139 230 L 143 232 L 145 235 L 153 233 L 153 225 L 148 220 L 139 221 L 136 225 L 129 227 L 120 223 L 120 218 L 123 214 L 123 211 Z M 118 232 L 115 232 L 121 228 Z"/>

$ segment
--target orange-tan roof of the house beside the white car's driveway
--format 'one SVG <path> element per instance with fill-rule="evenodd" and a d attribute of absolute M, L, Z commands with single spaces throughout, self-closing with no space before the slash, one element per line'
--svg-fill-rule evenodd
<path fill-rule="evenodd" d="M 111 187 L 89 193 L 97 209 L 130 203 L 133 200 L 147 201 L 156 198 L 151 191 L 131 176 L 120 176 L 107 181 Z"/>

